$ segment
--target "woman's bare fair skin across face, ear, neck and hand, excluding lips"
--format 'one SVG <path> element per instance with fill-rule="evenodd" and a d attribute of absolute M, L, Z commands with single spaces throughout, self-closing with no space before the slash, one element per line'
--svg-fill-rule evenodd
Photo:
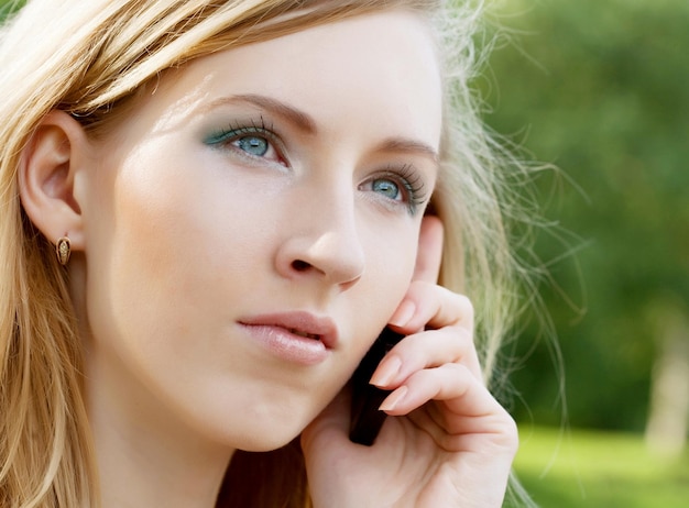
<path fill-rule="evenodd" d="M 22 202 L 75 251 L 103 507 L 214 506 L 233 450 L 302 431 L 316 506 L 500 506 L 514 423 L 423 218 L 440 97 L 426 26 L 391 11 L 171 70 L 103 139 L 46 118 Z M 240 324 L 296 310 L 335 323 L 325 358 L 286 360 Z M 401 418 L 363 448 L 340 391 L 386 323 L 409 336 L 372 382 Z"/>

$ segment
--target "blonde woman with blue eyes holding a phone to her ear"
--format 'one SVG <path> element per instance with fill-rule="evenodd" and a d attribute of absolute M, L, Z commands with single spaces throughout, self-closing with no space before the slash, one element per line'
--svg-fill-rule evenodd
<path fill-rule="evenodd" d="M 2 506 L 501 506 L 479 9 L 76 7 L 2 33 Z M 363 446 L 347 382 L 385 325 Z"/>

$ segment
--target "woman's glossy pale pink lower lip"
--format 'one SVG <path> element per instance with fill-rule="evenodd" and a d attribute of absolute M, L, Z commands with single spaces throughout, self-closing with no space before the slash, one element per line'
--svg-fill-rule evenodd
<path fill-rule="evenodd" d="M 240 324 L 266 350 L 287 362 L 316 365 L 324 362 L 329 355 L 328 349 L 321 341 L 291 333 L 282 327 Z"/>

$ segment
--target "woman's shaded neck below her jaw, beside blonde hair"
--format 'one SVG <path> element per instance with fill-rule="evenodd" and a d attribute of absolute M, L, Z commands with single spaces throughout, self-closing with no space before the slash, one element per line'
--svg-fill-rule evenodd
<path fill-rule="evenodd" d="M 199 437 L 128 376 L 87 368 L 102 508 L 212 508 L 232 450 Z M 106 379 L 110 377 L 109 379 Z"/>

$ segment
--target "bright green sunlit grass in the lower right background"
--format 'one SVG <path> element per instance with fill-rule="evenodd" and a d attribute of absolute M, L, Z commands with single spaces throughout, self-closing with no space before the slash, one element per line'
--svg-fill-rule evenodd
<path fill-rule="evenodd" d="M 636 434 L 526 429 L 515 471 L 542 508 L 689 507 L 689 453 L 654 455 Z"/>

